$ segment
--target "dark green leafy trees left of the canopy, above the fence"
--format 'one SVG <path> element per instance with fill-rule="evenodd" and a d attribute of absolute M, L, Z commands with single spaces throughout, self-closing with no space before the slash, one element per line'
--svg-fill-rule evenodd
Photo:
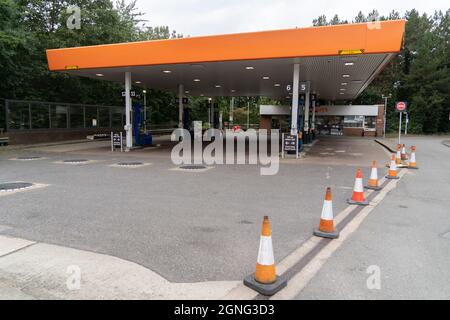
<path fill-rule="evenodd" d="M 79 30 L 66 26 L 70 5 L 81 8 Z M 165 26 L 146 27 L 140 17 L 134 1 L 0 0 L 0 98 L 123 105 L 121 84 L 50 72 L 45 50 L 181 36 Z M 173 95 L 150 91 L 147 98 L 155 119 L 177 118 Z M 0 106 L 1 128 L 1 100 Z"/>

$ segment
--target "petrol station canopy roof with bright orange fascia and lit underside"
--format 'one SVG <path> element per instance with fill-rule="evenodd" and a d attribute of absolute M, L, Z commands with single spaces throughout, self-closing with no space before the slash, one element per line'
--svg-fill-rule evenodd
<path fill-rule="evenodd" d="M 320 99 L 356 98 L 401 49 L 405 20 L 47 50 L 51 71 L 193 96 L 284 98 L 293 65 Z"/>

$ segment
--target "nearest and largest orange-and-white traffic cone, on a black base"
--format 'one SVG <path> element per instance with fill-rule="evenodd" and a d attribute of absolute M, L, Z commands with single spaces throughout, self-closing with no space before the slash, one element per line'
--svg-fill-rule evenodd
<path fill-rule="evenodd" d="M 263 221 L 256 272 L 244 278 L 244 285 L 265 296 L 274 295 L 287 285 L 286 279 L 277 276 L 275 272 L 272 232 L 268 216 L 265 216 Z"/>

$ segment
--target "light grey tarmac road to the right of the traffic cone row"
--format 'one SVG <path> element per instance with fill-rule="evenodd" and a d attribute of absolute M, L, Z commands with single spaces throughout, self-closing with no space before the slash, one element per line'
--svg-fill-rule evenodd
<path fill-rule="evenodd" d="M 450 147 L 443 140 L 402 139 L 417 146 L 420 169 L 409 170 L 297 299 L 450 299 Z M 380 289 L 368 289 L 370 266 L 379 268 Z"/>

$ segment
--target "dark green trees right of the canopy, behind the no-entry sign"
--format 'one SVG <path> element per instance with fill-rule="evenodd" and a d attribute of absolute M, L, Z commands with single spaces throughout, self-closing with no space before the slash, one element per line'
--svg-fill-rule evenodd
<path fill-rule="evenodd" d="M 354 22 L 370 21 L 376 10 L 368 16 L 359 12 Z M 402 18 L 392 11 L 380 20 Z M 436 12 L 433 16 L 420 15 L 416 10 L 407 12 L 404 47 L 392 63 L 358 97 L 355 104 L 384 103 L 381 95 L 392 94 L 387 110 L 387 130 L 398 130 L 397 101 L 408 102 L 409 132 L 438 133 L 450 131 L 450 10 Z M 319 23 L 320 22 L 320 23 Z M 324 16 L 314 24 L 341 23 Z"/>

